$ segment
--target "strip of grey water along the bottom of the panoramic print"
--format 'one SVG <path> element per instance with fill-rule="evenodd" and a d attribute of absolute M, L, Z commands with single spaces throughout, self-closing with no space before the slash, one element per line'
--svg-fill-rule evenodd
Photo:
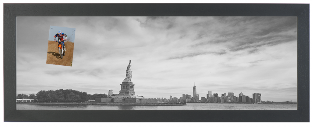
<path fill-rule="evenodd" d="M 108 106 L 18 104 L 17 110 L 297 110 L 296 104 L 186 103 L 186 106 Z"/>

